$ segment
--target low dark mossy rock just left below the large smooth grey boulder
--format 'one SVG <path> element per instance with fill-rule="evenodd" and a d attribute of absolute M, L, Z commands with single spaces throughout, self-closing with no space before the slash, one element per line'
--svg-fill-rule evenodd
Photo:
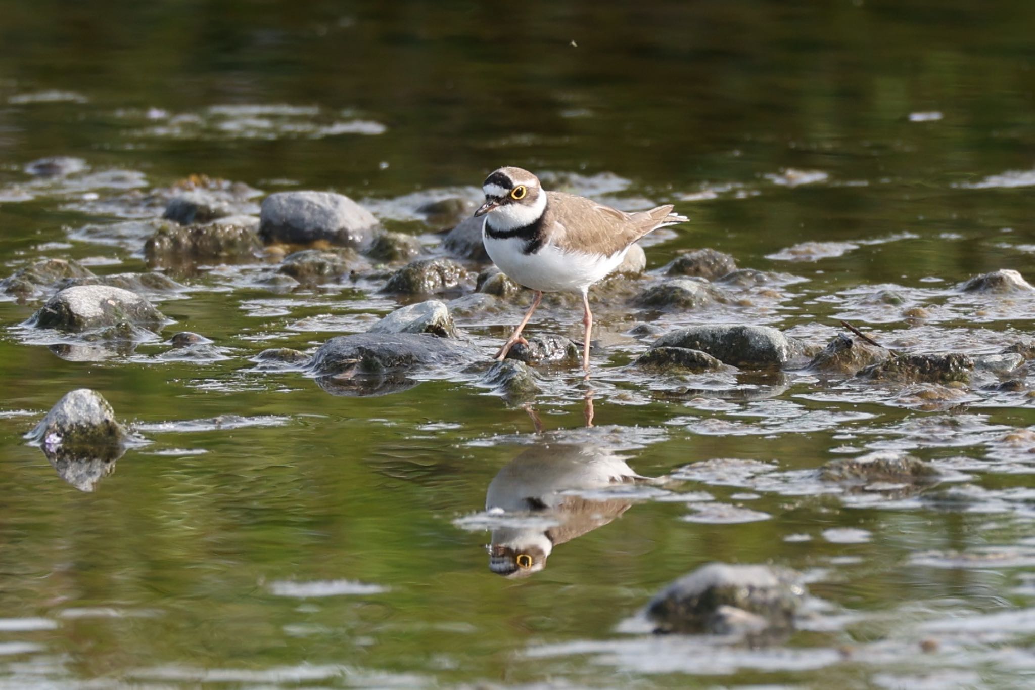
<path fill-rule="evenodd" d="M 255 232 L 239 226 L 165 226 L 147 239 L 144 257 L 149 264 L 167 266 L 225 257 L 254 257 L 261 249 L 262 243 Z"/>

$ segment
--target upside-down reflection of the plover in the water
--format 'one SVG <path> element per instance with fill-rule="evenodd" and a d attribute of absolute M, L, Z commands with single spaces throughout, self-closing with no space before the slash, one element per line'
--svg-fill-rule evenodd
<path fill-rule="evenodd" d="M 585 414 L 590 426 L 592 411 L 592 395 L 587 395 Z M 531 410 L 529 415 L 541 432 L 537 416 Z M 599 493 L 601 489 L 656 481 L 637 474 L 625 457 L 604 445 L 602 434 L 542 434 L 489 484 L 489 514 L 518 518 L 493 529 L 486 547 L 490 569 L 505 577 L 542 570 L 555 546 L 608 524 L 632 505 L 627 493 L 608 498 Z"/>

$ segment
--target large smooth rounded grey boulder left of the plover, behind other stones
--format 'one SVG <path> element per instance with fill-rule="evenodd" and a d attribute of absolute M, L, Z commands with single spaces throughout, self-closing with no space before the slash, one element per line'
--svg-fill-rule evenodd
<path fill-rule="evenodd" d="M 329 191 L 282 191 L 262 203 L 259 237 L 264 242 L 332 244 L 362 247 L 371 243 L 378 219 L 343 194 Z"/>

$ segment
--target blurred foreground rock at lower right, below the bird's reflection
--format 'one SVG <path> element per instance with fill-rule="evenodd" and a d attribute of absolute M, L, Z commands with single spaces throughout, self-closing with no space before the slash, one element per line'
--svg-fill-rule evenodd
<path fill-rule="evenodd" d="M 806 595 L 801 576 L 787 568 L 711 563 L 662 590 L 647 605 L 655 632 L 726 634 L 732 607 L 767 628 L 794 627 Z"/>

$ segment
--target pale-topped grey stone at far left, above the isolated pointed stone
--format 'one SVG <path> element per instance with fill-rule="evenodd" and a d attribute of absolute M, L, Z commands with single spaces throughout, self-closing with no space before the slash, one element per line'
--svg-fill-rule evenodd
<path fill-rule="evenodd" d="M 157 330 L 165 317 L 146 299 L 121 288 L 77 286 L 48 300 L 29 321 L 36 328 L 81 332 L 126 323 Z"/>

